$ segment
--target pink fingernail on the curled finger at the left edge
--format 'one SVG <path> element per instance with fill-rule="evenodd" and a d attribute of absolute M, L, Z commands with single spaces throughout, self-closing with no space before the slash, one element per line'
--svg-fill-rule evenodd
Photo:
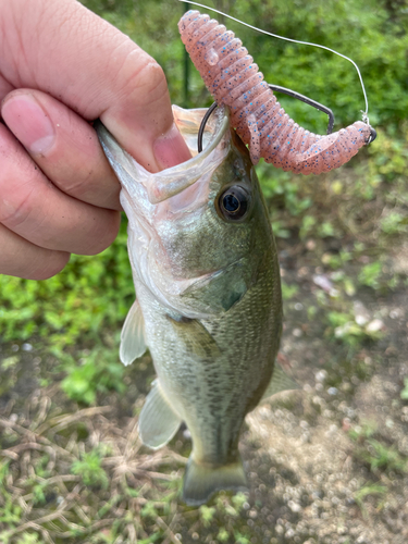
<path fill-rule="evenodd" d="M 53 124 L 33 95 L 14 95 L 5 99 L 1 115 L 10 131 L 30 153 L 44 154 L 53 146 Z"/>

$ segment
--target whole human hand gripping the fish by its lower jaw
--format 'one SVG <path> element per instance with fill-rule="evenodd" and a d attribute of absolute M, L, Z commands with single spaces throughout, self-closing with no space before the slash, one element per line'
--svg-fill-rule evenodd
<path fill-rule="evenodd" d="M 75 0 L 0 0 L 0 273 L 42 280 L 115 238 L 120 186 L 88 123 L 147 170 L 189 159 L 161 67 Z"/>

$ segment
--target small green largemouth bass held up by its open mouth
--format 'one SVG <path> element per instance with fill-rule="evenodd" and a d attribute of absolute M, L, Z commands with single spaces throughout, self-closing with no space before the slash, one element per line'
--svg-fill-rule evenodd
<path fill-rule="evenodd" d="M 150 350 L 157 379 L 139 415 L 139 436 L 164 446 L 184 422 L 193 448 L 187 505 L 220 490 L 247 490 L 238 452 L 245 416 L 264 395 L 294 388 L 275 366 L 282 333 L 276 246 L 246 146 L 221 107 L 173 106 L 191 159 L 159 173 L 139 165 L 101 124 L 97 133 L 121 183 L 136 300 L 120 358 Z"/>

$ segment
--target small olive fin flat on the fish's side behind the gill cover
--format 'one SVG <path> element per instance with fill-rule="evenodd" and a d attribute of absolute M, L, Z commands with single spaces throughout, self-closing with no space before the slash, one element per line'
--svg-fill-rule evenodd
<path fill-rule="evenodd" d="M 177 321 L 170 316 L 168 319 L 176 331 L 178 339 L 183 342 L 187 354 L 201 359 L 214 359 L 221 355 L 217 342 L 198 320 L 182 318 Z"/>

